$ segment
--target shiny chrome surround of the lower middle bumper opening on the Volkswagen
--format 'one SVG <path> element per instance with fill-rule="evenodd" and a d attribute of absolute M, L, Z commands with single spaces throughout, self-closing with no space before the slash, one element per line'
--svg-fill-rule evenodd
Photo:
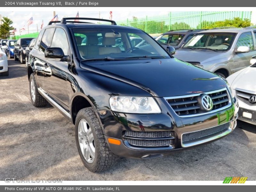
<path fill-rule="evenodd" d="M 213 137 L 210 137 L 210 138 L 207 138 L 207 139 L 204 139 L 204 140 L 199 140 L 199 141 L 196 141 L 196 142 L 191 142 L 191 143 L 183 144 L 183 143 L 182 143 L 182 136 L 183 136 L 183 134 L 192 133 L 192 132 L 182 133 L 182 134 L 181 134 L 181 139 L 180 139 L 180 140 L 181 140 L 181 146 L 182 146 L 182 147 L 191 147 L 191 146 L 203 144 L 203 143 L 206 143 L 206 142 L 209 142 L 209 141 L 212 141 L 212 140 L 216 140 L 216 139 L 218 139 L 218 138 L 220 138 L 220 137 L 223 137 L 223 136 L 225 136 L 225 135 L 228 135 L 230 132 L 232 132 L 232 130 L 235 129 L 234 124 L 232 124 L 232 121 L 234 121 L 234 120 L 231 120 L 231 121 L 227 122 L 227 123 L 230 123 L 230 125 L 229 125 L 227 131 L 222 132 L 222 133 L 219 134 L 219 135 L 215 135 L 215 136 L 213 136 Z M 235 122 L 235 121 L 234 121 L 234 122 Z M 224 123 L 224 124 L 227 124 L 227 123 Z M 217 125 L 217 126 L 218 126 L 218 125 Z M 233 126 L 233 128 L 232 128 L 232 126 Z M 216 127 L 216 126 L 213 126 L 213 127 Z M 213 127 L 206 128 L 206 129 L 211 129 L 211 128 L 213 128 Z M 205 129 L 198 130 L 198 131 L 203 131 L 203 130 L 205 130 Z M 193 131 L 193 132 L 198 132 L 198 131 Z"/>

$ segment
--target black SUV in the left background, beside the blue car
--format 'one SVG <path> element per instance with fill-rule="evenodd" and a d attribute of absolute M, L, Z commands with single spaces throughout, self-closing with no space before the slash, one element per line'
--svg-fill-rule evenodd
<path fill-rule="evenodd" d="M 20 63 L 24 64 L 26 47 L 32 39 L 34 38 L 20 38 L 17 40 L 13 48 L 13 56 L 15 61 L 20 59 Z"/>

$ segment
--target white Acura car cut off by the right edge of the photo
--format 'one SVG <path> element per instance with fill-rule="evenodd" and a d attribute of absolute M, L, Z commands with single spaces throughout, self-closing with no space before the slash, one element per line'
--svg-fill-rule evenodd
<path fill-rule="evenodd" d="M 256 59 L 227 78 L 238 99 L 238 119 L 256 125 Z"/>

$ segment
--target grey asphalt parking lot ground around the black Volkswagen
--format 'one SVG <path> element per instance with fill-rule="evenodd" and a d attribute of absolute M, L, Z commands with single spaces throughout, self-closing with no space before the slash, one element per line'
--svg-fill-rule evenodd
<path fill-rule="evenodd" d="M 0 180 L 256 180 L 256 126 L 238 121 L 225 138 L 163 158 L 121 158 L 109 170 L 89 172 L 77 152 L 74 125 L 55 108 L 30 102 L 26 65 L 8 60 L 0 77 Z"/>

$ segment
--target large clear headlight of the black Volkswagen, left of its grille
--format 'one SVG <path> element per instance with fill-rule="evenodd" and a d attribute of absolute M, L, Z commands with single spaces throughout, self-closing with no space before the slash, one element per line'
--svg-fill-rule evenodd
<path fill-rule="evenodd" d="M 112 111 L 121 113 L 161 113 L 161 109 L 152 97 L 112 96 L 109 105 Z"/>

